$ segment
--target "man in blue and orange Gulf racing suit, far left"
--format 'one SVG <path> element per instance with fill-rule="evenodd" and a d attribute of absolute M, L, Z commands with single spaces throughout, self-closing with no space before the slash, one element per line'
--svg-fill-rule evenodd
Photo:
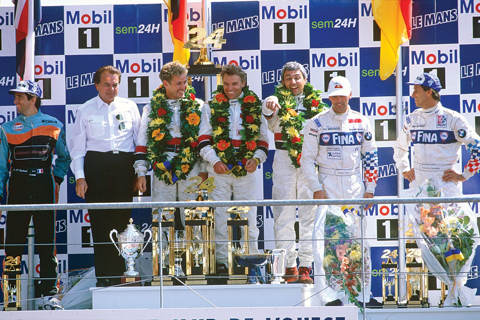
<path fill-rule="evenodd" d="M 0 199 L 8 181 L 8 204 L 56 203 L 60 184 L 70 165 L 63 125 L 39 110 L 42 91 L 36 82 L 22 81 L 9 93 L 15 96 L 14 103 L 20 115 L 1 126 Z M 52 170 L 54 151 L 57 159 Z M 21 260 L 31 217 L 36 243 L 47 244 L 36 248 L 40 258 L 40 277 L 47 278 L 41 281 L 39 294 L 45 297 L 45 309 L 63 309 L 60 301 L 53 297 L 59 284 L 55 211 L 9 212 L 5 257 L 20 257 Z"/>

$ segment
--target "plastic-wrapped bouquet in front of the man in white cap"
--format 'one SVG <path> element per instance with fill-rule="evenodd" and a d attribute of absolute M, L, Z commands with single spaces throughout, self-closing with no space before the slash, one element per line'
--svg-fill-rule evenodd
<path fill-rule="evenodd" d="M 362 277 L 362 243 L 360 217 L 353 207 L 319 206 L 313 227 L 313 256 L 323 300 L 336 299 L 360 305 L 370 297 L 370 247 L 363 241 L 365 284 Z M 366 224 L 364 224 L 366 229 Z M 362 285 L 363 284 L 363 285 Z M 363 288 L 362 288 L 363 287 Z"/>

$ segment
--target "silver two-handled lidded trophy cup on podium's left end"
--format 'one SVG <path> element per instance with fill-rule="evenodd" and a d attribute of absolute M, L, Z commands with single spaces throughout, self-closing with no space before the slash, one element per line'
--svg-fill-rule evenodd
<path fill-rule="evenodd" d="M 119 255 L 122 256 L 127 261 L 127 271 L 123 273 L 121 278 L 122 284 L 130 285 L 141 285 L 140 274 L 135 270 L 135 260 L 144 253 L 144 238 L 148 233 L 150 237 L 146 241 L 148 243 L 152 239 L 152 232 L 150 230 L 145 230 L 142 235 L 135 225 L 133 225 L 133 219 L 130 218 L 130 224 L 127 225 L 127 228 L 123 230 L 120 235 L 117 230 L 113 229 L 110 231 L 110 239 L 112 240 L 113 245 L 119 251 Z M 115 233 L 117 237 L 118 246 L 116 245 L 115 240 L 113 240 L 112 234 Z"/>

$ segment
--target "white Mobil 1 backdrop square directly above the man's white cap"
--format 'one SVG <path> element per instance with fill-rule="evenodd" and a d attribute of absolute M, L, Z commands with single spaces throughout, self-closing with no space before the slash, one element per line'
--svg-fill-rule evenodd
<path fill-rule="evenodd" d="M 312 74 L 310 81 L 323 92 L 328 91 L 328 83 L 336 76 L 348 78 L 353 96 L 360 95 L 359 48 L 310 49 Z"/>

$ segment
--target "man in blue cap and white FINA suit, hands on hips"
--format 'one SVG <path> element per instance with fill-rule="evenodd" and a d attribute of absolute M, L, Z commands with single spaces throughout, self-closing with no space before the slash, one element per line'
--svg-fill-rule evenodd
<path fill-rule="evenodd" d="M 458 112 L 445 108 L 440 102 L 440 80 L 432 73 L 421 72 L 408 84 L 413 85 L 412 98 L 419 107 L 405 119 L 394 148 L 398 171 L 419 186 L 427 179 L 442 179 L 459 183 L 473 176 L 480 168 L 480 137 Z M 408 161 L 408 147 L 413 143 L 413 166 Z M 460 159 L 460 147 L 465 144 L 470 160 L 459 174 L 455 171 Z M 438 181 L 437 180 L 437 181 Z"/>

